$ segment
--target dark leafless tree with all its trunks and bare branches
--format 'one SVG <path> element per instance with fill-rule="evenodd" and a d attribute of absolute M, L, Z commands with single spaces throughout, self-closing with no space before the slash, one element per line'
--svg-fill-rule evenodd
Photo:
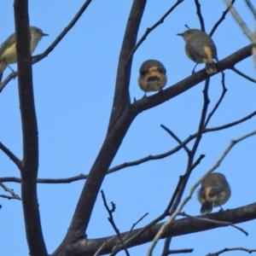
<path fill-rule="evenodd" d="M 115 91 L 113 96 L 113 108 L 111 117 L 109 119 L 108 132 L 105 140 L 102 142 L 102 148 L 100 149 L 94 164 L 91 166 L 88 175 L 80 175 L 78 177 L 59 178 L 59 179 L 38 179 L 38 125 L 37 116 L 35 112 L 35 103 L 33 96 L 32 85 L 32 64 L 42 60 L 50 54 L 55 46 L 65 37 L 67 32 L 72 29 L 76 21 L 80 16 L 86 12 L 87 7 L 92 1 L 87 0 L 75 15 L 70 24 L 61 32 L 58 38 L 44 51 L 42 55 L 37 55 L 32 61 L 30 59 L 30 38 L 28 37 L 28 1 L 27 0 L 15 0 L 15 30 L 17 34 L 17 51 L 18 51 L 18 84 L 19 84 L 19 97 L 20 97 L 20 113 L 22 123 L 22 138 L 23 138 L 23 156 L 19 160 L 15 154 L 13 154 L 9 148 L 6 148 L 3 143 L 0 144 L 4 154 L 7 154 L 11 160 L 14 161 L 17 168 L 20 170 L 20 177 L 6 177 L 1 178 L 1 186 L 9 191 L 9 198 L 20 199 L 19 195 L 15 195 L 13 191 L 5 187 L 5 182 L 20 182 L 21 184 L 21 198 L 22 206 L 24 209 L 26 238 L 29 247 L 30 255 L 33 256 L 46 256 L 48 255 L 47 248 L 44 244 L 44 236 L 42 233 L 41 221 L 39 217 L 38 208 L 38 196 L 37 196 L 37 184 L 38 183 L 70 183 L 79 179 L 84 179 L 84 188 L 79 197 L 77 207 L 73 213 L 73 218 L 67 231 L 67 236 L 63 238 L 63 241 L 55 249 L 52 255 L 102 255 L 111 254 L 115 255 L 121 250 L 125 250 L 126 255 L 129 255 L 129 247 L 134 247 L 148 241 L 154 241 L 155 243 L 159 238 L 165 238 L 165 246 L 163 248 L 162 255 L 168 255 L 170 253 L 186 253 L 191 252 L 193 249 L 182 249 L 180 251 L 171 250 L 171 238 L 174 236 L 181 236 L 190 233 L 195 233 L 203 230 L 211 230 L 224 225 L 234 225 L 241 222 L 253 220 L 256 218 L 256 203 L 251 205 L 242 206 L 236 209 L 230 209 L 229 211 L 212 213 L 206 216 L 191 217 L 182 213 L 182 206 L 185 201 L 182 201 L 184 189 L 189 181 L 191 172 L 195 170 L 204 155 L 201 154 L 196 158 L 197 148 L 201 143 L 201 137 L 208 132 L 217 132 L 224 129 L 228 129 L 234 125 L 240 125 L 242 122 L 246 122 L 256 114 L 256 111 L 248 114 L 247 116 L 238 119 L 232 123 L 220 125 L 218 127 L 208 127 L 209 120 L 222 103 L 226 87 L 224 80 L 224 71 L 231 69 L 236 73 L 239 73 L 244 79 L 250 80 L 255 83 L 253 78 L 247 76 L 247 74 L 241 73 L 236 69 L 235 65 L 242 62 L 247 57 L 252 55 L 253 44 L 248 44 L 242 49 L 237 50 L 233 54 L 227 56 L 221 61 L 216 63 L 218 73 L 222 73 L 222 94 L 219 96 L 218 102 L 212 110 L 209 110 L 209 84 L 211 82 L 211 76 L 205 69 L 189 75 L 189 77 L 172 84 L 165 90 L 142 98 L 135 102 L 131 102 L 129 94 L 129 84 L 132 67 L 132 56 L 135 54 L 138 47 L 143 44 L 143 41 L 150 32 L 157 29 L 158 26 L 166 19 L 168 15 L 172 15 L 172 11 L 177 8 L 179 4 L 183 3 L 183 0 L 177 0 L 177 2 L 166 10 L 166 14 L 163 15 L 158 22 L 148 28 L 143 34 L 142 38 L 137 38 L 137 33 L 140 27 L 140 22 L 143 17 L 143 12 L 146 6 L 146 0 L 133 0 L 131 4 L 131 12 L 127 18 L 127 24 L 125 27 L 125 33 L 123 38 L 123 44 L 119 53 L 119 64 L 116 75 Z M 232 1 L 233 4 L 235 1 Z M 201 21 L 201 29 L 204 30 L 204 19 L 201 15 L 200 3 L 195 0 L 197 8 L 197 14 Z M 223 22 L 225 15 L 229 12 L 229 9 L 225 9 L 223 15 L 216 22 L 212 28 L 212 32 L 218 29 L 218 25 Z M 7 79 L 1 84 L 1 90 L 9 83 L 10 79 L 17 76 L 17 73 L 11 73 Z M 141 160 L 135 160 L 128 162 L 120 166 L 110 168 L 114 156 L 117 154 L 119 147 L 125 137 L 126 132 L 129 130 L 131 123 L 137 118 L 137 115 L 143 111 L 147 111 L 149 108 L 154 108 L 172 98 L 179 96 L 186 90 L 190 90 L 196 84 L 204 82 L 204 102 L 201 108 L 201 119 L 198 124 L 198 130 L 187 137 L 185 140 L 181 140 L 170 129 L 164 125 L 162 127 L 170 134 L 174 140 L 177 141 L 177 147 L 172 148 L 168 152 L 159 155 L 150 155 Z M 253 129 L 252 129 L 253 130 Z M 249 137 L 255 134 L 255 131 L 245 137 Z M 240 141 L 244 137 L 238 139 Z M 188 146 L 188 143 L 192 146 Z M 191 144 L 192 143 L 192 144 Z M 235 142 L 236 143 L 236 142 Z M 232 147 L 233 144 L 230 146 Z M 141 229 L 127 230 L 125 233 L 119 233 L 118 227 L 114 224 L 113 211 L 115 205 L 108 206 L 105 195 L 102 192 L 102 197 L 105 201 L 105 206 L 108 209 L 109 220 L 113 225 L 113 236 L 102 237 L 98 239 L 87 238 L 86 230 L 90 223 L 92 210 L 95 206 L 96 197 L 99 195 L 102 182 L 106 175 L 117 172 L 128 166 L 136 166 L 143 164 L 149 160 L 160 160 L 166 158 L 172 154 L 177 153 L 180 149 L 183 149 L 188 154 L 188 162 L 186 170 L 180 177 L 177 188 L 170 199 L 170 202 L 166 206 L 165 211 L 160 214 L 158 218 L 155 218 L 152 222 L 148 223 Z M 230 149 L 230 148 L 229 148 Z M 200 181 L 199 181 L 200 182 Z M 195 189 L 195 188 L 194 188 Z M 176 219 L 177 214 L 183 214 L 183 218 Z M 166 224 L 160 223 L 166 217 L 170 216 L 170 221 Z M 208 220 L 208 219 L 211 220 Z M 246 232 L 241 230 L 242 232 Z M 159 233 L 160 232 L 160 233 Z M 157 235 L 160 234 L 158 237 Z M 154 245 L 154 244 L 153 244 Z M 151 253 L 148 251 L 148 255 Z"/>

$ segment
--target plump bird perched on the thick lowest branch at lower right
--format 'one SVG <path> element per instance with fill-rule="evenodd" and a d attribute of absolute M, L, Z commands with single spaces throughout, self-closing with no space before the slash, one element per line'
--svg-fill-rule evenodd
<path fill-rule="evenodd" d="M 231 189 L 222 173 L 213 172 L 202 181 L 197 198 L 201 202 L 202 214 L 212 212 L 212 207 L 220 207 L 230 199 Z"/>

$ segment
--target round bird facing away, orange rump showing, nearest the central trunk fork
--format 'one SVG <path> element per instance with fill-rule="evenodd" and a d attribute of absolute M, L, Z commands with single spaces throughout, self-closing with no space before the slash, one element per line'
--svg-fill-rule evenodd
<path fill-rule="evenodd" d="M 160 61 L 144 61 L 137 81 L 140 88 L 145 91 L 144 96 L 148 91 L 161 90 L 167 82 L 166 67 Z"/>

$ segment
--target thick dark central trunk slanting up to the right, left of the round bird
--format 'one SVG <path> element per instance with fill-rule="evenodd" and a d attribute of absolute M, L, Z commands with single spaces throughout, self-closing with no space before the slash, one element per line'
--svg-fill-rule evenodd
<path fill-rule="evenodd" d="M 128 65 L 125 64 L 131 49 L 136 44 L 137 32 L 143 17 L 145 5 L 146 0 L 134 0 L 132 3 L 131 13 L 127 21 L 125 36 L 119 55 L 119 67 L 108 133 L 82 189 L 72 222 L 67 231 L 67 236 L 54 254 L 60 253 L 60 251 L 65 254 L 68 251 L 68 254 L 71 255 L 70 243 L 74 240 L 77 241 L 84 238 L 84 233 L 90 222 L 90 215 L 103 179 L 125 137 L 125 133 L 137 115 L 131 108 L 128 108 L 130 105 L 128 85 L 130 82 L 131 61 Z"/>

